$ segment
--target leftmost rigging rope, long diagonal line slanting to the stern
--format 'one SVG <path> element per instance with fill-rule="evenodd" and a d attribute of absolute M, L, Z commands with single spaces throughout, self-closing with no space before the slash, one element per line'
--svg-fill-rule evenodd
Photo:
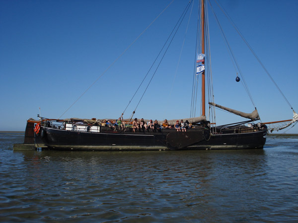
<path fill-rule="evenodd" d="M 172 0 L 160 13 L 157 15 L 157 17 L 146 27 L 146 29 L 99 75 L 99 77 L 74 101 L 74 103 L 66 110 L 64 111 L 59 119 L 67 112 L 69 111 L 74 104 L 108 71 L 108 69 L 111 68 L 114 63 L 125 54 L 126 51 L 146 32 L 146 30 L 155 22 L 155 20 L 173 3 L 174 0 Z"/>

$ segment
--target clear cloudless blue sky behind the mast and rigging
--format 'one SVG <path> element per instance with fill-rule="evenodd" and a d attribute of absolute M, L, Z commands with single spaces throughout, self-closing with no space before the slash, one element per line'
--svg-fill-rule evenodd
<path fill-rule="evenodd" d="M 170 1 L 0 0 L 0 130 L 24 130 L 28 118 L 37 118 L 39 107 L 42 116 L 60 117 Z M 298 1 L 219 1 L 298 112 Z M 62 118 L 119 117 L 187 2 L 175 0 Z M 211 2 L 262 121 L 291 119 L 287 103 Z M 189 14 L 135 117 L 189 117 L 196 9 L 197 1 L 176 77 Z M 234 68 L 211 11 L 209 16 L 215 102 L 251 112 L 254 108 L 242 85 L 235 82 Z M 124 117 L 131 115 L 141 93 Z M 217 110 L 218 124 L 240 120 Z M 298 133 L 298 125 L 287 133 Z"/>

